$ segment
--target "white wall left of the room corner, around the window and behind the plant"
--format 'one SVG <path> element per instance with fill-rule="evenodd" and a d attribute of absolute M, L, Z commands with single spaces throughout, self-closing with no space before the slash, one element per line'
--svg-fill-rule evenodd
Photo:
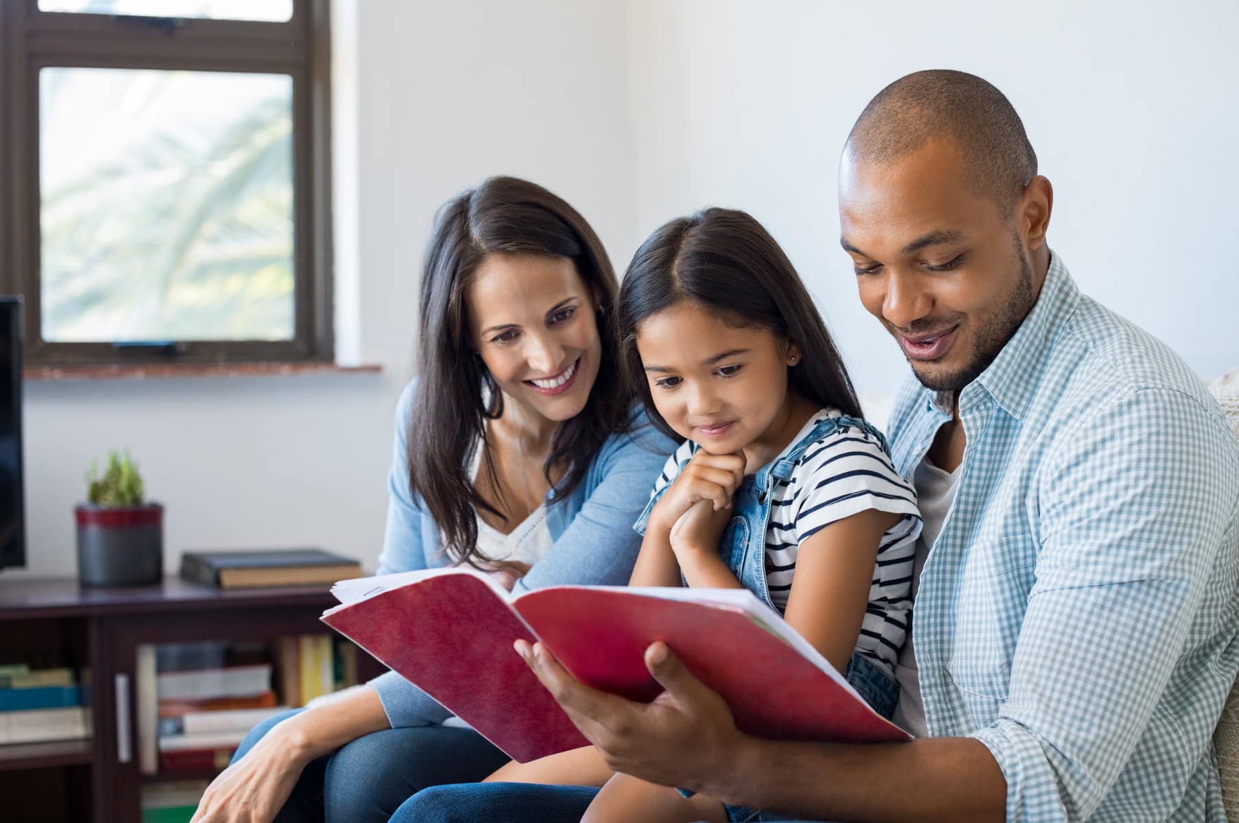
<path fill-rule="evenodd" d="M 539 0 L 339 0 L 337 227 L 349 359 L 380 376 L 26 383 L 27 568 L 76 570 L 72 507 L 92 459 L 130 449 L 186 548 L 320 545 L 373 566 L 392 410 L 410 373 L 418 262 L 435 208 L 487 175 L 528 176 L 596 224 L 633 228 L 626 9 Z M 349 150 L 352 147 L 352 150 Z M 352 255 L 352 257 L 351 257 Z"/>

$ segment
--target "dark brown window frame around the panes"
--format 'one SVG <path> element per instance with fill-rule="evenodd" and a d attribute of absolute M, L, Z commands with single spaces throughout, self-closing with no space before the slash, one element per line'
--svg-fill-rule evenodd
<path fill-rule="evenodd" d="M 287 22 L 38 11 L 0 0 L 0 291 L 25 296 L 31 366 L 333 359 L 328 0 L 292 0 Z M 38 72 L 161 68 L 292 77 L 294 336 L 115 346 L 42 340 Z M 161 341 L 162 342 L 162 341 Z"/>

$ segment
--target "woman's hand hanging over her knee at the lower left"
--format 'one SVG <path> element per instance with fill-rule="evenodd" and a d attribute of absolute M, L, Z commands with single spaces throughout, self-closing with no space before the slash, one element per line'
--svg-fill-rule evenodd
<path fill-rule="evenodd" d="M 278 724 L 207 787 L 190 823 L 271 823 L 306 764 L 294 721 Z"/>

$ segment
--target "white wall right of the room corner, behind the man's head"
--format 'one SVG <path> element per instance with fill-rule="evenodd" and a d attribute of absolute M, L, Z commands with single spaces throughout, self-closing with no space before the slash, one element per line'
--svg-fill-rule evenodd
<path fill-rule="evenodd" d="M 1054 185 L 1051 245 L 1197 369 L 1239 366 L 1239 4 L 636 0 L 637 224 L 747 209 L 825 310 L 861 389 L 906 373 L 839 248 L 836 164 L 865 103 L 922 68 L 985 77 Z"/>

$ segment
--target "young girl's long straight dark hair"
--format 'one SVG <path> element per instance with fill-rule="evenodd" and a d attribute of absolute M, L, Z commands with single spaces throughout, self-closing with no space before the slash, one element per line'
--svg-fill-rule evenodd
<path fill-rule="evenodd" d="M 789 369 L 790 385 L 818 405 L 861 416 L 839 350 L 787 254 L 746 212 L 706 208 L 650 234 L 620 289 L 624 374 L 668 436 L 679 439 L 654 407 L 637 353 L 637 328 L 684 300 L 721 314 L 726 322 L 768 328 L 794 342 L 802 359 Z"/>

